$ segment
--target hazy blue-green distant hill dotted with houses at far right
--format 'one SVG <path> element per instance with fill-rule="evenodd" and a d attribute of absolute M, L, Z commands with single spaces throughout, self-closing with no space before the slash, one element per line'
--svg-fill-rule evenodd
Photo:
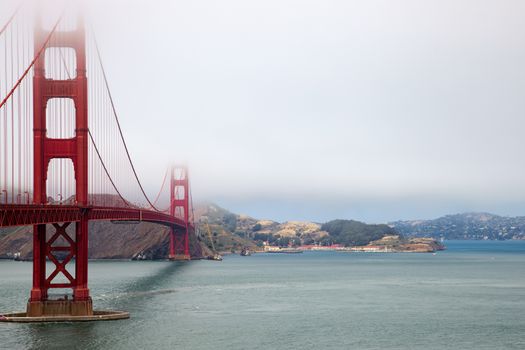
<path fill-rule="evenodd" d="M 434 220 L 396 221 L 389 225 L 405 236 L 444 239 L 525 239 L 523 216 L 464 213 Z"/>

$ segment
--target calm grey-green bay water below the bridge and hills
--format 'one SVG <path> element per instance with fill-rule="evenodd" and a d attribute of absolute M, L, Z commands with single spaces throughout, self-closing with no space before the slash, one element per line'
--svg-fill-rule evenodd
<path fill-rule="evenodd" d="M 222 262 L 93 261 L 95 307 L 131 319 L 0 324 L 2 349 L 525 349 L 525 242 L 432 254 L 304 253 Z M 31 264 L 0 261 L 0 310 Z"/>

